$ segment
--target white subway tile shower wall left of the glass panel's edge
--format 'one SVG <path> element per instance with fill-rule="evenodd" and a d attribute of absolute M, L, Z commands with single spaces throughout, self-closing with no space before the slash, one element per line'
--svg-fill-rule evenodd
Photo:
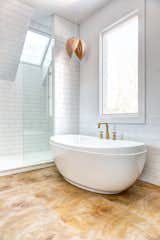
<path fill-rule="evenodd" d="M 21 81 L 22 83 L 22 81 Z M 0 155 L 23 154 L 23 102 L 19 82 L 0 80 Z"/>

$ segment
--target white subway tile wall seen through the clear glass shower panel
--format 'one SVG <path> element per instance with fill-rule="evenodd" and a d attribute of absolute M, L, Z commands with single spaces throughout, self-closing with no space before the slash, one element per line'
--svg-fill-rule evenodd
<path fill-rule="evenodd" d="M 48 81 L 39 66 L 23 68 L 24 153 L 49 150 Z"/>

